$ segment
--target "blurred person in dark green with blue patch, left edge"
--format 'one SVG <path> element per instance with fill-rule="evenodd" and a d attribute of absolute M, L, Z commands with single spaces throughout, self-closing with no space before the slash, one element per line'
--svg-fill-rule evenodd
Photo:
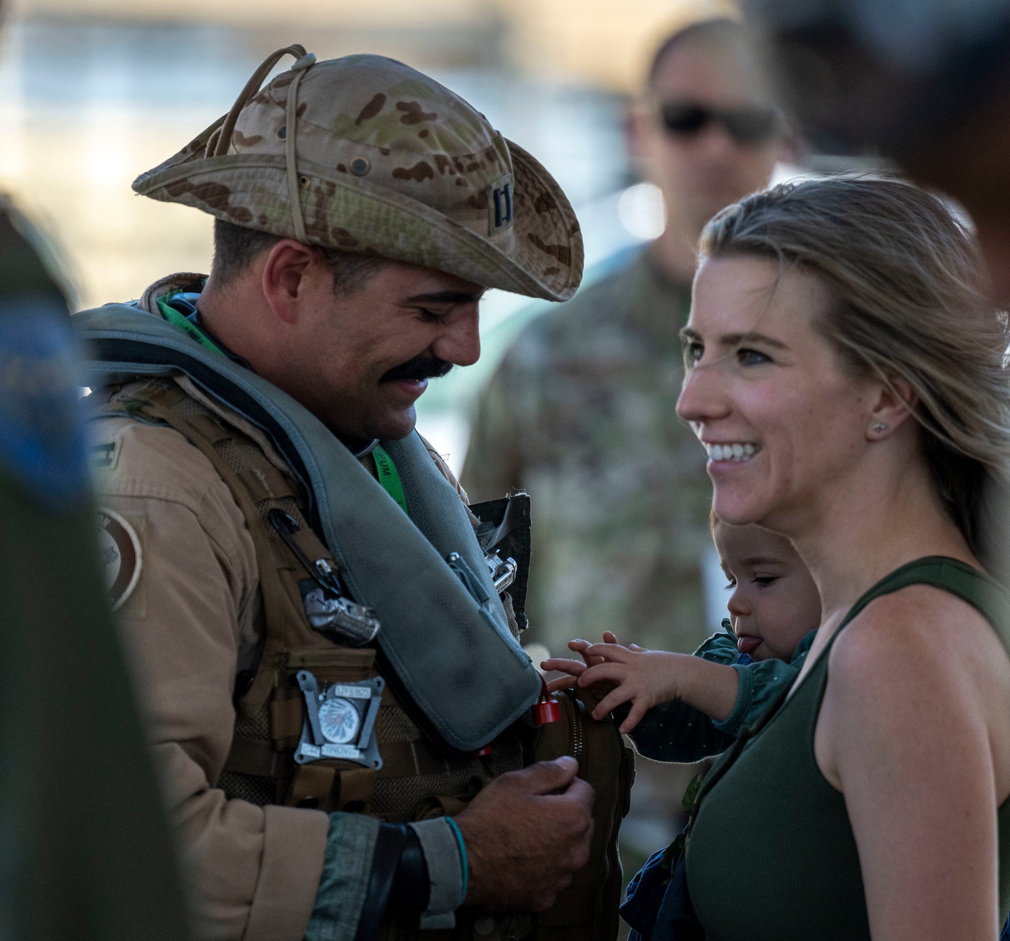
<path fill-rule="evenodd" d="M 103 579 L 120 558 L 103 539 L 99 561 L 78 350 L 46 247 L 0 199 L 0 937 L 182 941 Z"/>

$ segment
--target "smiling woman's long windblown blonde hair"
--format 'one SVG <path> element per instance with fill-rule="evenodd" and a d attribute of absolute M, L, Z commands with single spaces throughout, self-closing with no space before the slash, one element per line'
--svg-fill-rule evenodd
<path fill-rule="evenodd" d="M 784 184 L 715 216 L 701 253 L 778 259 L 821 279 L 834 302 L 819 329 L 862 375 L 915 390 L 937 491 L 973 551 L 988 554 L 987 482 L 1005 484 L 1010 467 L 1010 329 L 947 207 L 896 180 Z"/>

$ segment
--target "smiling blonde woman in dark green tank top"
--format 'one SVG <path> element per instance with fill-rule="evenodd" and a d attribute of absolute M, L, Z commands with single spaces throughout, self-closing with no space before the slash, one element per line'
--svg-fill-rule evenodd
<path fill-rule="evenodd" d="M 1010 334 L 985 287 L 899 182 L 779 187 L 702 236 L 678 412 L 719 518 L 789 536 L 823 605 L 790 694 L 703 786 L 707 941 L 994 941 L 1010 909 L 1010 602 L 980 536 Z"/>

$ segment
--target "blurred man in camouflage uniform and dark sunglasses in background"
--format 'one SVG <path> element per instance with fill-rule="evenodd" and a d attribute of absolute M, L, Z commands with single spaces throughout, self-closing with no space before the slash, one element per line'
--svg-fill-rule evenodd
<path fill-rule="evenodd" d="M 552 654 L 604 630 L 682 652 L 710 633 L 711 486 L 674 406 L 702 226 L 764 187 L 786 152 L 744 40 L 715 18 L 660 47 L 627 129 L 635 165 L 663 192 L 666 230 L 528 328 L 478 407 L 462 482 L 477 500 L 531 495 L 524 641 Z"/>

